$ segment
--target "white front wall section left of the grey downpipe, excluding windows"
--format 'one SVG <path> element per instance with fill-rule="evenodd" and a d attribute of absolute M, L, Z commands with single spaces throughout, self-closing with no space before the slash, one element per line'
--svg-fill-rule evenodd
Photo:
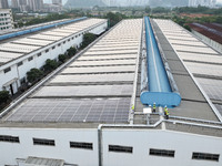
<path fill-rule="evenodd" d="M 80 166 L 98 166 L 97 129 L 0 128 L 0 135 L 20 137 L 20 144 L 0 142 L 0 166 L 16 165 L 16 158 L 28 156 L 61 158 Z M 56 139 L 56 146 L 33 145 L 33 137 Z M 70 148 L 69 142 L 93 143 L 94 149 Z"/>

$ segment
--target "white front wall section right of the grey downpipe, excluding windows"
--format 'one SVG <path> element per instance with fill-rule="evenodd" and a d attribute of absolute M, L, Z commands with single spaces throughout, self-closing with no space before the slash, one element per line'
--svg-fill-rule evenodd
<path fill-rule="evenodd" d="M 133 154 L 108 152 L 108 145 L 133 146 Z M 149 149 L 173 149 L 175 157 L 150 156 Z M 105 166 L 219 166 L 220 162 L 194 160 L 193 152 L 222 155 L 221 138 L 168 131 L 105 131 L 103 132 L 103 160 Z"/>

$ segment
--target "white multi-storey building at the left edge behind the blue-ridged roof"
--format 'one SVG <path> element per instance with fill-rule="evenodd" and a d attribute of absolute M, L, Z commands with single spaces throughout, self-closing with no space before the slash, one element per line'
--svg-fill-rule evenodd
<path fill-rule="evenodd" d="M 0 32 L 13 29 L 11 9 L 0 9 Z"/>

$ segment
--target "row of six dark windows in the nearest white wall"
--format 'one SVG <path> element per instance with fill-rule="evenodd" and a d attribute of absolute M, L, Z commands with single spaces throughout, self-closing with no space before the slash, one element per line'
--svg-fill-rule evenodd
<path fill-rule="evenodd" d="M 0 142 L 20 143 L 18 136 L 11 136 L 11 135 L 0 135 Z M 33 138 L 33 145 L 56 146 L 56 142 L 54 139 Z M 70 142 L 70 148 L 93 149 L 93 144 L 84 142 Z M 132 154 L 133 147 L 121 146 L 121 145 L 109 145 L 109 152 Z M 160 157 L 174 157 L 175 151 L 150 148 L 149 155 L 160 156 Z M 200 152 L 194 152 L 192 154 L 192 159 L 219 162 L 219 158 L 220 158 L 219 154 L 200 153 Z"/>

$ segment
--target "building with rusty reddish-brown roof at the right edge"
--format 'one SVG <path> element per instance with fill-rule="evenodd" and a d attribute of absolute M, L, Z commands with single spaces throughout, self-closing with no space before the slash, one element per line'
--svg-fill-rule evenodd
<path fill-rule="evenodd" d="M 190 23 L 192 33 L 222 53 L 222 25 L 220 23 Z"/>

